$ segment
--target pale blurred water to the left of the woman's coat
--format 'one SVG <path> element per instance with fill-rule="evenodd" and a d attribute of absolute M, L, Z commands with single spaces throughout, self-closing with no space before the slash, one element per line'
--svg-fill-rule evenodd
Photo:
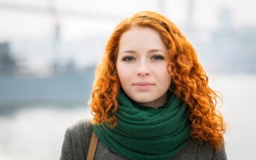
<path fill-rule="evenodd" d="M 59 159 L 66 127 L 90 117 L 88 109 L 38 106 L 0 117 L 0 159 Z"/>

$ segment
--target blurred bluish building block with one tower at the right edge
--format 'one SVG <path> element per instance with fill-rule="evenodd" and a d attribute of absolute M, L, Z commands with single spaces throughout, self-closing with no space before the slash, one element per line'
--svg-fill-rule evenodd
<path fill-rule="evenodd" d="M 256 71 L 256 28 L 234 28 L 231 12 L 219 12 L 219 30 L 213 32 L 211 42 L 214 66 L 218 71 Z"/>

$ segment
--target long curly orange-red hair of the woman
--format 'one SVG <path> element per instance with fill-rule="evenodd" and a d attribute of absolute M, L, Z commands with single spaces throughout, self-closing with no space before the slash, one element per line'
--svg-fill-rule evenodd
<path fill-rule="evenodd" d="M 222 99 L 208 86 L 208 77 L 190 42 L 169 19 L 152 11 L 135 13 L 131 18 L 122 20 L 110 35 L 102 61 L 96 68 L 92 97 L 88 102 L 93 114 L 92 123 L 102 124 L 104 121 L 110 127 L 118 123 L 115 112 L 120 89 L 116 71 L 119 39 L 133 27 L 149 27 L 159 33 L 168 49 L 170 62 L 167 68 L 175 86 L 174 94 L 189 106 L 190 136 L 199 143 L 208 141 L 214 148 L 221 149 L 225 144 L 226 125 L 216 110 L 216 104 Z"/>

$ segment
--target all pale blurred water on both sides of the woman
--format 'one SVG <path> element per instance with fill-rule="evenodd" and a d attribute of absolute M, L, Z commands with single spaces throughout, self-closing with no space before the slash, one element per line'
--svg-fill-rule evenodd
<path fill-rule="evenodd" d="M 256 75 L 218 74 L 209 79 L 223 96 L 221 111 L 229 124 L 225 134 L 228 159 L 253 159 Z M 0 159 L 59 159 L 66 127 L 81 118 L 91 118 L 87 106 L 0 109 Z"/>

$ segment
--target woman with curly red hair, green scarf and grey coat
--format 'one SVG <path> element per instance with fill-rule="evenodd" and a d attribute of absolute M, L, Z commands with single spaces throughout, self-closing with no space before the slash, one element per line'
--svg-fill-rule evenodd
<path fill-rule="evenodd" d="M 227 159 L 216 92 L 193 46 L 158 13 L 117 25 L 96 70 L 92 121 L 66 130 L 60 159 Z"/>

